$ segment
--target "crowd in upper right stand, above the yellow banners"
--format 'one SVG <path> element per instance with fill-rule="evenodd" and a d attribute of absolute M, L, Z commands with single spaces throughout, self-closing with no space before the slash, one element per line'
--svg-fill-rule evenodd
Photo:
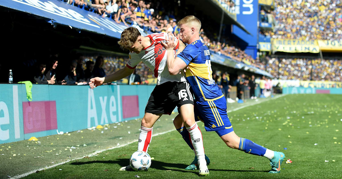
<path fill-rule="evenodd" d="M 272 38 L 342 39 L 341 0 L 279 0 L 275 3 L 272 13 L 277 25 Z"/>

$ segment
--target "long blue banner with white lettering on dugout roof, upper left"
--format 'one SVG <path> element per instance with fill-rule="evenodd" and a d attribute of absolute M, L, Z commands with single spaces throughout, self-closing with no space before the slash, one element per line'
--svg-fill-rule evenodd
<path fill-rule="evenodd" d="M 52 20 L 53 25 L 66 25 L 118 39 L 120 39 L 121 32 L 127 28 L 122 23 L 117 24 L 113 19 L 58 0 L 3 0 L 0 1 L 0 5 L 45 17 L 47 20 Z M 143 36 L 147 35 L 143 31 L 140 32 Z"/>

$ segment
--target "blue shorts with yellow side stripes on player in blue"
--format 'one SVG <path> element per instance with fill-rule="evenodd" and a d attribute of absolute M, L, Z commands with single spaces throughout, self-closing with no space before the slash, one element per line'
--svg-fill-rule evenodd
<path fill-rule="evenodd" d="M 194 103 L 195 120 L 202 121 L 206 131 L 216 131 L 220 137 L 234 131 L 227 116 L 225 98 L 214 101 L 195 101 Z"/>

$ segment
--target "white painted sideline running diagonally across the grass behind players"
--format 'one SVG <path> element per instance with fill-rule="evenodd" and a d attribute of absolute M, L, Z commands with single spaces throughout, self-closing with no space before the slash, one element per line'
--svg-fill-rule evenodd
<path fill-rule="evenodd" d="M 270 100 L 274 100 L 274 99 L 280 98 L 280 97 L 285 96 L 285 95 L 287 95 L 287 94 L 281 94 L 281 95 L 276 96 L 276 97 L 274 97 L 274 98 L 272 98 L 272 99 L 270 99 Z M 267 101 L 269 101 L 269 100 L 267 100 Z M 245 107 L 249 107 L 249 106 L 253 106 L 253 105 L 256 105 L 256 104 L 260 104 L 260 103 L 262 103 L 262 102 L 266 102 L 266 101 L 260 101 L 260 102 L 254 103 L 254 104 L 248 104 L 248 105 L 245 105 L 245 106 L 240 106 L 240 107 L 238 107 L 238 108 L 235 108 L 235 109 L 232 109 L 232 110 L 227 111 L 227 113 L 231 113 L 231 112 L 233 112 L 233 111 L 236 111 L 236 110 L 239 110 L 239 109 L 242 109 L 242 108 L 245 108 Z M 199 122 L 199 121 L 197 121 L 197 122 Z M 169 132 L 172 132 L 172 131 L 174 131 L 174 129 L 168 130 L 168 131 L 165 131 L 165 132 L 161 132 L 161 133 L 157 133 L 157 134 L 153 134 L 152 136 L 154 137 L 154 136 L 166 134 L 166 133 L 169 133 Z M 115 149 L 115 148 L 120 148 L 120 147 L 123 147 L 123 146 L 127 146 L 127 145 L 130 145 L 130 144 L 135 143 L 135 142 L 137 142 L 137 141 L 138 141 L 138 140 L 133 140 L 133 141 L 130 141 L 129 143 L 126 143 L 126 144 L 123 144 L 123 145 L 120 145 L 120 146 L 111 147 L 111 148 L 103 149 L 103 150 L 98 150 L 98 151 L 95 151 L 95 152 L 93 152 L 93 153 L 91 153 L 91 154 L 89 154 L 89 155 L 84 155 L 84 156 L 82 156 L 82 157 L 80 157 L 80 158 L 76 158 L 76 159 L 72 159 L 72 160 L 67 160 L 67 161 L 60 162 L 60 163 L 57 163 L 57 164 L 54 164 L 54 165 L 50 165 L 50 166 L 46 166 L 46 167 L 39 168 L 39 169 L 36 169 L 36 170 L 32 170 L 32 171 L 26 172 L 26 173 L 21 174 L 21 175 L 16 175 L 16 176 L 14 176 L 14 177 L 12 177 L 12 178 L 13 178 L 13 179 L 17 179 L 17 178 L 26 177 L 26 176 L 28 176 L 28 175 L 30 175 L 30 174 L 36 173 L 37 170 L 43 170 L 43 169 L 53 168 L 53 167 L 56 167 L 56 166 L 58 166 L 58 165 L 63 165 L 63 164 L 65 164 L 65 163 L 68 163 L 68 162 L 71 162 L 71 161 L 74 161 L 74 160 L 82 159 L 82 158 L 84 158 L 85 156 L 91 157 L 91 156 L 94 156 L 94 155 L 96 155 L 96 154 L 98 154 L 98 153 L 104 152 L 104 151 L 106 151 L 106 150 L 111 150 L 111 149 Z"/>

